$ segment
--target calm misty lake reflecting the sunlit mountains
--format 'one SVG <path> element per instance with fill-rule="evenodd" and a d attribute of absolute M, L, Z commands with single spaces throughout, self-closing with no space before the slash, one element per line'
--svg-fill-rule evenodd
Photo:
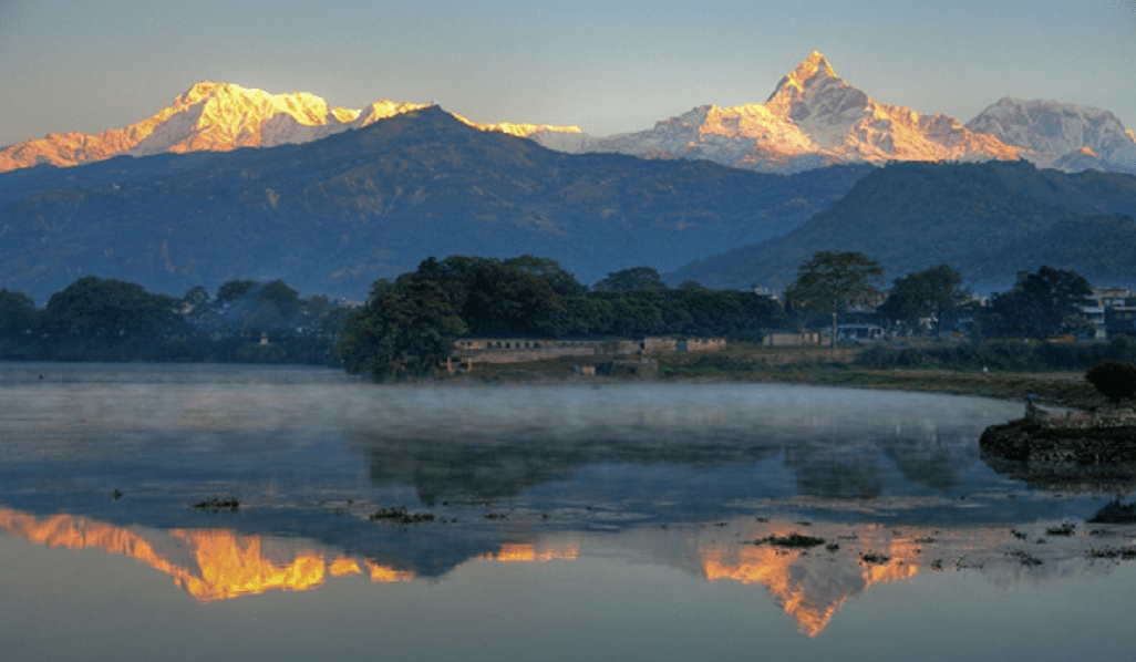
<path fill-rule="evenodd" d="M 1130 467 L 1022 403 L 0 363 L 14 660 L 1121 659 Z M 996 469 L 996 470 L 995 470 Z"/>

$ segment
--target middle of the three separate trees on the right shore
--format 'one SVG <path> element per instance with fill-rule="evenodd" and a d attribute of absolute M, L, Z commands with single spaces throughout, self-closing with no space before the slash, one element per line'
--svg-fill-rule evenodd
<path fill-rule="evenodd" d="M 947 265 L 896 278 L 879 313 L 910 328 L 930 319 L 936 333 L 950 322 L 951 312 L 969 296 L 962 275 Z"/>

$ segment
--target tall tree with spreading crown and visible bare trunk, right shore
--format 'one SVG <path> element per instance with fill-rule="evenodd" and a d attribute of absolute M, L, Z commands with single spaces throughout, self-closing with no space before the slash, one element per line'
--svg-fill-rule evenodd
<path fill-rule="evenodd" d="M 884 268 L 863 253 L 817 251 L 797 268 L 786 298 L 794 305 L 832 315 L 835 347 L 836 316 L 854 305 L 874 304 L 883 280 Z"/>

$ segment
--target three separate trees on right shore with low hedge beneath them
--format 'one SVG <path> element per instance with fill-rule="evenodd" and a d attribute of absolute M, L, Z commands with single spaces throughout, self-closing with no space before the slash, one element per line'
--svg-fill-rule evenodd
<path fill-rule="evenodd" d="M 1101 379 L 1118 384 L 1127 384 L 1136 370 L 1136 340 L 1125 335 L 1108 343 L 1020 342 L 1095 332 L 1081 310 L 1093 288 L 1076 271 L 1041 267 L 1036 273 L 1021 273 L 1013 287 L 994 293 L 985 305 L 947 265 L 896 278 L 887 292 L 882 291 L 882 283 L 883 269 L 862 253 L 820 251 L 802 262 L 786 300 L 790 307 L 832 316 L 834 343 L 837 318 L 853 309 L 870 311 L 870 320 L 907 333 L 937 336 L 961 328 L 963 320 L 969 322 L 969 342 L 933 347 L 877 344 L 859 354 L 855 362 L 861 367 L 1081 370 L 1117 363 L 1127 366 L 1117 372 L 1124 378 L 1109 372 Z M 797 315 L 796 319 L 803 318 Z M 1113 397 L 1110 393 L 1105 395 Z"/>

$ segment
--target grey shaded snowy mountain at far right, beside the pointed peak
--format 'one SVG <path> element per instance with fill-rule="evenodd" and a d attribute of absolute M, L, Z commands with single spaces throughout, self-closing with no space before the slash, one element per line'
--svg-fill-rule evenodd
<path fill-rule="evenodd" d="M 967 128 L 1025 148 L 1022 157 L 1042 167 L 1136 173 L 1136 137 L 1100 108 L 1005 97 Z"/>

